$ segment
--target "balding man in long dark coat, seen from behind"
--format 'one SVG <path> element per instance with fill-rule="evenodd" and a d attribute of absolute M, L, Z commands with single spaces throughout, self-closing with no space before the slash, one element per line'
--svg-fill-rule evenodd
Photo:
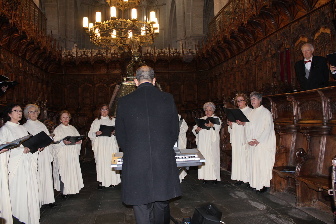
<path fill-rule="evenodd" d="M 141 66 L 134 81 L 138 88 L 120 97 L 117 107 L 116 137 L 124 152 L 121 199 L 133 205 L 138 224 L 169 223 L 168 200 L 181 195 L 173 149 L 177 109 L 170 93 L 154 87 L 152 68 Z"/>

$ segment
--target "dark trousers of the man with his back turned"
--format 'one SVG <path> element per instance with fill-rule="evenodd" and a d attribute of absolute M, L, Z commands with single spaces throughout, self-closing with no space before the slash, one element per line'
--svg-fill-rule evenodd
<path fill-rule="evenodd" d="M 169 224 L 169 201 L 155 201 L 146 205 L 133 205 L 136 224 Z"/>

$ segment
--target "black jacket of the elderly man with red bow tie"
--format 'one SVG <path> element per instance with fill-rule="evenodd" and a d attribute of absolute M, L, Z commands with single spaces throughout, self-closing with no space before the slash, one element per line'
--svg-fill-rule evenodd
<path fill-rule="evenodd" d="M 326 87 L 329 80 L 329 69 L 325 57 L 313 56 L 308 79 L 305 77 L 304 59 L 295 63 L 296 77 L 301 89 L 318 89 Z"/>

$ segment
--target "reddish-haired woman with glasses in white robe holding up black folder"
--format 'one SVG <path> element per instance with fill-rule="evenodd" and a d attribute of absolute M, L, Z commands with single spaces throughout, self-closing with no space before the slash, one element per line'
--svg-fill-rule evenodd
<path fill-rule="evenodd" d="M 243 114 L 247 117 L 248 113 L 252 110 L 248 106 L 250 100 L 244 94 L 238 94 L 235 98 L 236 105 L 241 109 Z M 245 122 L 229 121 L 227 120 L 227 131 L 230 134 L 230 142 L 232 146 L 232 170 L 231 179 L 238 180 L 235 184 L 241 185 L 243 182 L 249 182 L 246 176 L 246 156 L 245 156 Z"/>

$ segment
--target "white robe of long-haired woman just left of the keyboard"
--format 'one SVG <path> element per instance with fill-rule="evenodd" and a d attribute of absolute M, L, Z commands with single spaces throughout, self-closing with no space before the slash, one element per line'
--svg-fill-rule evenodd
<path fill-rule="evenodd" d="M 114 135 L 111 137 L 101 136 L 96 137 L 96 131 L 99 131 L 100 125 L 115 126 L 116 119 L 100 116 L 100 119 L 96 118 L 89 131 L 89 138 L 92 141 L 92 150 L 94 154 L 94 160 L 96 162 L 97 181 L 101 182 L 101 185 L 108 187 L 112 185 L 118 185 L 120 180 L 119 171 L 115 171 L 111 168 L 111 159 L 113 152 L 119 152 L 117 139 Z"/>

